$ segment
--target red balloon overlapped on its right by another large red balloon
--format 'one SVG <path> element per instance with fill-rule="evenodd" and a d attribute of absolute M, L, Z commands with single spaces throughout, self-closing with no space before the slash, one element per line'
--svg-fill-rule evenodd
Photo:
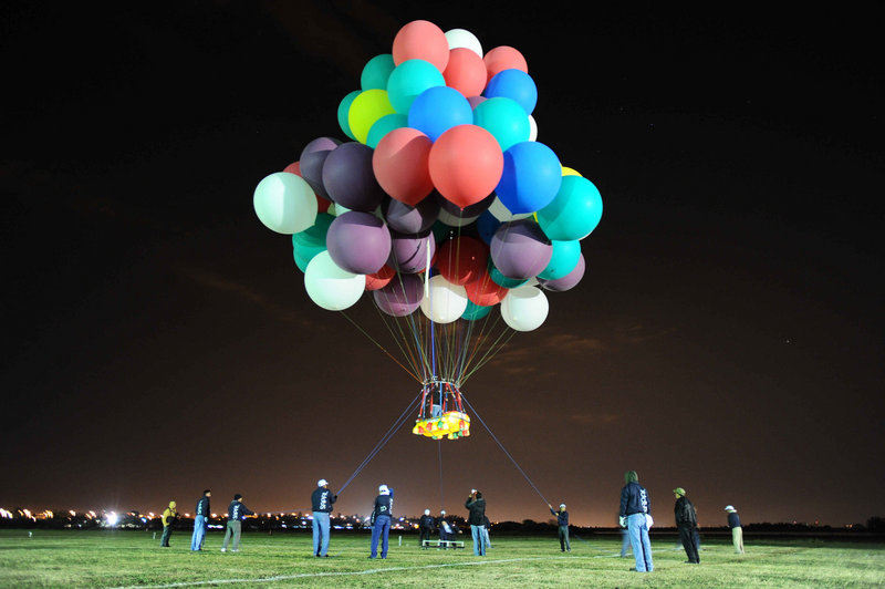
<path fill-rule="evenodd" d="M 378 142 L 372 155 L 375 179 L 392 198 L 415 206 L 434 190 L 428 161 L 434 142 L 412 127 L 399 127 Z"/>

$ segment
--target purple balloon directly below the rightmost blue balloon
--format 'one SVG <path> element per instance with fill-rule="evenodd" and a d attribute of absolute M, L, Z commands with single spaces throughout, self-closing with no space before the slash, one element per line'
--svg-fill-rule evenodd
<path fill-rule="evenodd" d="M 489 250 L 498 271 L 517 280 L 538 276 L 553 256 L 553 246 L 533 219 L 501 224 Z"/>

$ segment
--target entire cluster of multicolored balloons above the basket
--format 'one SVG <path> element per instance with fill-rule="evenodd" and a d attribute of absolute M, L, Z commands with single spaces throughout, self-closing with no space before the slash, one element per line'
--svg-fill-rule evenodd
<path fill-rule="evenodd" d="M 254 192 L 259 219 L 292 235 L 310 298 L 343 310 L 368 291 L 437 323 L 499 306 L 512 329 L 538 328 L 544 292 L 584 275 L 602 198 L 537 141 L 524 56 L 417 20 L 360 82 L 337 108 L 350 141 L 311 141 Z"/>

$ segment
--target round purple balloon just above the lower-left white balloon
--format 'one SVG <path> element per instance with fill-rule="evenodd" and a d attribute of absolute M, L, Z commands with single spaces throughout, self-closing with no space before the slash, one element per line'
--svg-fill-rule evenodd
<path fill-rule="evenodd" d="M 391 231 L 375 215 L 348 210 L 329 226 L 325 246 L 342 270 L 371 275 L 381 270 L 391 256 Z"/>

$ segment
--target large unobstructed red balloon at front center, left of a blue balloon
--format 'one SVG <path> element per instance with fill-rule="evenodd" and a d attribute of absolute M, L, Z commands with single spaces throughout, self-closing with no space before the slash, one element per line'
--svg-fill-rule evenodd
<path fill-rule="evenodd" d="M 494 190 L 504 169 L 504 156 L 491 133 L 477 125 L 458 125 L 434 142 L 429 166 L 439 194 L 464 208 Z"/>

